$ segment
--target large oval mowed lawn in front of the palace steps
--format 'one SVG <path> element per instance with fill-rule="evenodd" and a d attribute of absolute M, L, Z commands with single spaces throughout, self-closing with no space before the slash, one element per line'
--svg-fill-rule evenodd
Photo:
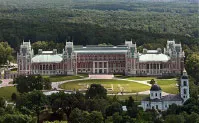
<path fill-rule="evenodd" d="M 119 93 L 121 91 L 125 93 L 136 93 L 140 91 L 146 91 L 150 89 L 150 86 L 130 82 L 125 80 L 113 80 L 113 79 L 88 79 L 81 81 L 73 81 L 60 85 L 62 89 L 66 90 L 79 90 L 86 89 L 91 84 L 101 84 L 106 89 L 108 89 L 108 93 Z"/>

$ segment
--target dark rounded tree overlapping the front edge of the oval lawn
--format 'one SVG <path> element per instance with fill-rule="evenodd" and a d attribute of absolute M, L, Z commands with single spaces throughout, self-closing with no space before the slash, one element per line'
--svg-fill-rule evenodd
<path fill-rule="evenodd" d="M 100 84 L 91 84 L 86 91 L 86 98 L 106 98 L 107 90 Z"/>

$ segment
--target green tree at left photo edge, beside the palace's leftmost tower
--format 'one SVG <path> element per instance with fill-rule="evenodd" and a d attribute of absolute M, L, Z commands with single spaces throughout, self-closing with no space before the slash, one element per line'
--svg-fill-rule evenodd
<path fill-rule="evenodd" d="M 6 64 L 7 61 L 13 60 L 13 49 L 7 42 L 0 42 L 0 65 Z"/>

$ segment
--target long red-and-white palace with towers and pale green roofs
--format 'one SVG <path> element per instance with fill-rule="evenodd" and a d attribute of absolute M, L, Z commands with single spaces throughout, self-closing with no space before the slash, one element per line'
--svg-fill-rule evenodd
<path fill-rule="evenodd" d="M 184 52 L 181 44 L 167 41 L 163 52 L 143 49 L 137 51 L 136 44 L 125 41 L 124 45 L 74 46 L 66 42 L 61 54 L 57 50 L 33 53 L 30 42 L 23 42 L 17 54 L 19 74 L 76 75 L 125 74 L 128 76 L 181 75 L 184 69 Z"/>

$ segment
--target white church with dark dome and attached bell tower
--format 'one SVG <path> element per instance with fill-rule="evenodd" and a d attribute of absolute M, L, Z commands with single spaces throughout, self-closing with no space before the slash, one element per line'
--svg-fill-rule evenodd
<path fill-rule="evenodd" d="M 189 80 L 187 72 L 184 71 L 180 79 L 180 93 L 177 95 L 162 96 L 161 88 L 154 84 L 150 89 L 150 97 L 145 98 L 141 102 L 141 107 L 147 109 L 167 110 L 169 105 L 183 105 L 183 103 L 190 98 L 189 95 Z"/>

